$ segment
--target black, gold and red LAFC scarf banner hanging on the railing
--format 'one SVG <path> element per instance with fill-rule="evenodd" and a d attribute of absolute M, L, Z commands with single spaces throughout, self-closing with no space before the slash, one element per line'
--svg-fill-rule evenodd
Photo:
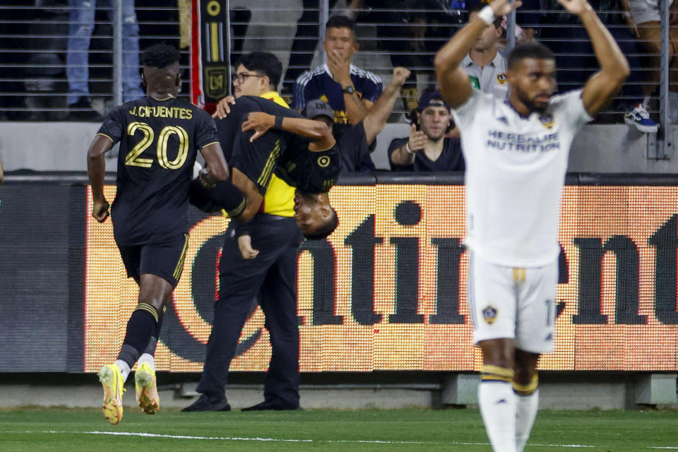
<path fill-rule="evenodd" d="M 213 112 L 216 103 L 228 95 L 227 0 L 193 0 L 191 26 L 191 100 Z"/>

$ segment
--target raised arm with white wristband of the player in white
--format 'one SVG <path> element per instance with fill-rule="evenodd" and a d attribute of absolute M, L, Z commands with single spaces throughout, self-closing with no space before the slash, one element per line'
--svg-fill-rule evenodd
<path fill-rule="evenodd" d="M 511 3 L 509 0 L 494 0 L 492 4 L 483 8 L 475 18 L 456 32 L 451 40 L 438 51 L 434 61 L 436 75 L 440 84 L 440 92 L 450 107 L 456 108 L 462 105 L 471 95 L 468 74 L 463 68 L 459 67 L 461 60 L 471 51 L 473 44 L 494 18 L 506 16 L 521 4 L 521 1 Z"/>

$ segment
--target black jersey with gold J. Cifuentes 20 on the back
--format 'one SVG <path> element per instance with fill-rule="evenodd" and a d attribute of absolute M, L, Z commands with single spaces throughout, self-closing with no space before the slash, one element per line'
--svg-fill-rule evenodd
<path fill-rule="evenodd" d="M 143 97 L 112 109 L 100 134 L 120 142 L 111 217 L 116 242 L 164 242 L 188 232 L 198 150 L 217 143 L 209 114 L 178 99 Z"/>

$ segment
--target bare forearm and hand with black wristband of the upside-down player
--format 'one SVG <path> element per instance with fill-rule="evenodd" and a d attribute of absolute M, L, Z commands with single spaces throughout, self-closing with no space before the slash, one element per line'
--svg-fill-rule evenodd
<path fill-rule="evenodd" d="M 273 116 L 264 112 L 251 112 L 247 120 L 242 123 L 242 131 L 254 130 L 254 135 L 249 141 L 254 141 L 262 136 L 268 129 L 278 129 L 295 135 L 309 138 L 309 149 L 321 151 L 331 148 L 334 143 L 332 129 L 322 121 L 297 117 Z"/>

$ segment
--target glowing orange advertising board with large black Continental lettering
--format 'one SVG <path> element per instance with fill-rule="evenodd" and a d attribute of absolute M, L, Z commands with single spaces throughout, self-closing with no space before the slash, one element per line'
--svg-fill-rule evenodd
<path fill-rule="evenodd" d="M 114 187 L 107 187 L 112 198 Z M 88 195 L 91 205 L 91 194 Z M 338 229 L 299 255 L 302 371 L 480 369 L 466 302 L 463 186 L 335 186 Z M 200 371 L 226 222 L 191 209 L 191 238 L 157 364 Z M 85 371 L 112 362 L 136 305 L 110 221 L 88 217 Z M 566 186 L 555 350 L 540 369 L 675 371 L 678 187 Z M 263 314 L 232 370 L 266 370 Z"/>

